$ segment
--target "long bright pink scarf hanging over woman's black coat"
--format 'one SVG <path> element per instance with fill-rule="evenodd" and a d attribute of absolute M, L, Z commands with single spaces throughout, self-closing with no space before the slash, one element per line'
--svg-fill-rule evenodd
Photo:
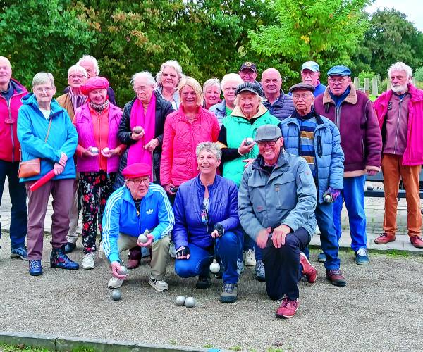
<path fill-rule="evenodd" d="M 126 165 L 133 163 L 146 163 L 153 168 L 152 153 L 144 149 L 145 144 L 154 138 L 156 128 L 156 95 L 152 94 L 147 108 L 147 114 L 144 115 L 144 108 L 140 99 L 135 99 L 132 109 L 130 110 L 130 129 L 133 130 L 135 126 L 144 128 L 144 136 L 135 144 L 129 147 L 128 162 Z M 152 170 L 151 168 L 151 170 Z M 153 180 L 152 171 L 150 172 L 150 179 Z"/>

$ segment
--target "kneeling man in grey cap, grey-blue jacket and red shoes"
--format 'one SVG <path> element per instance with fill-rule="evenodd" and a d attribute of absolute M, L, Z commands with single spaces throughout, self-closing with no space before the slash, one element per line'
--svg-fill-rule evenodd
<path fill-rule="evenodd" d="M 314 234 L 316 187 L 307 161 L 283 151 L 278 126 L 257 129 L 259 156 L 247 166 L 238 195 L 238 212 L 245 232 L 262 248 L 266 290 L 282 300 L 278 318 L 298 310 L 298 281 L 316 281 L 317 270 L 304 253 Z"/>

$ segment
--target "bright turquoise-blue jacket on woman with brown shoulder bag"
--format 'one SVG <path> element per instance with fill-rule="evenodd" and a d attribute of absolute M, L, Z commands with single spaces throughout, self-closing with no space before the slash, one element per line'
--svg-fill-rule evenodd
<path fill-rule="evenodd" d="M 32 93 L 25 95 L 22 103 L 23 106 L 18 113 L 18 139 L 22 149 L 22 160 L 41 158 L 41 172 L 33 177 L 21 178 L 20 182 L 38 180 L 47 174 L 53 169 L 54 163 L 59 163 L 62 152 L 68 156 L 68 161 L 63 172 L 54 176 L 53 180 L 75 178 L 73 154 L 78 145 L 78 134 L 67 111 L 52 99 L 50 117 L 44 118 Z M 44 142 L 50 119 L 52 120 L 49 137 L 47 142 Z"/>

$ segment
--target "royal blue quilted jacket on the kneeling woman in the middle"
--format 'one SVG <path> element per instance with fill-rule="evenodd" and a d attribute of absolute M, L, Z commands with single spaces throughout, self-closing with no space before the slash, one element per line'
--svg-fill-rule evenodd
<path fill-rule="evenodd" d="M 201 218 L 205 187 L 200 182 L 200 175 L 179 186 L 173 204 L 175 225 L 172 239 L 176 249 L 189 246 L 190 243 L 204 249 L 209 248 L 214 244 L 214 238 L 210 234 L 218 222 L 225 232 L 232 231 L 240 236 L 238 189 L 235 183 L 216 175 L 214 183 L 208 188 L 209 222 L 205 225 Z"/>

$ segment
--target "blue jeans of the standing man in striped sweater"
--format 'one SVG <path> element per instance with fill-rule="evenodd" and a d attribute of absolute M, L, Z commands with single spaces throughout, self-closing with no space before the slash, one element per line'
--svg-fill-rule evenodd
<path fill-rule="evenodd" d="M 321 249 L 326 254 L 324 267 L 326 270 L 339 269 L 341 260 L 338 258 L 339 239 L 333 225 L 333 204 L 318 203 L 314 214 L 320 229 Z"/>

